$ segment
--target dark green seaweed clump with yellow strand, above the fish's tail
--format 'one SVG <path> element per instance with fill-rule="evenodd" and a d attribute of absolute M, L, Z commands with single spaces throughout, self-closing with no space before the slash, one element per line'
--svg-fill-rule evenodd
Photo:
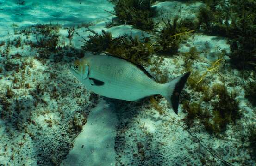
<path fill-rule="evenodd" d="M 161 15 L 162 16 L 162 15 Z M 171 20 L 164 20 L 164 28 L 159 31 L 157 37 L 157 43 L 160 45 L 160 52 L 165 53 L 177 53 L 179 44 L 184 41 L 189 33 L 193 32 L 194 25 L 189 20 L 179 20 L 176 16 L 172 23 Z"/>

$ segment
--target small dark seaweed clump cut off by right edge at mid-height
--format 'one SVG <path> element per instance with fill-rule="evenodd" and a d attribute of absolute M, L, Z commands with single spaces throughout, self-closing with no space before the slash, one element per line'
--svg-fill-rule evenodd
<path fill-rule="evenodd" d="M 245 97 L 250 101 L 250 103 L 256 107 L 256 82 L 250 81 L 244 87 Z"/>

